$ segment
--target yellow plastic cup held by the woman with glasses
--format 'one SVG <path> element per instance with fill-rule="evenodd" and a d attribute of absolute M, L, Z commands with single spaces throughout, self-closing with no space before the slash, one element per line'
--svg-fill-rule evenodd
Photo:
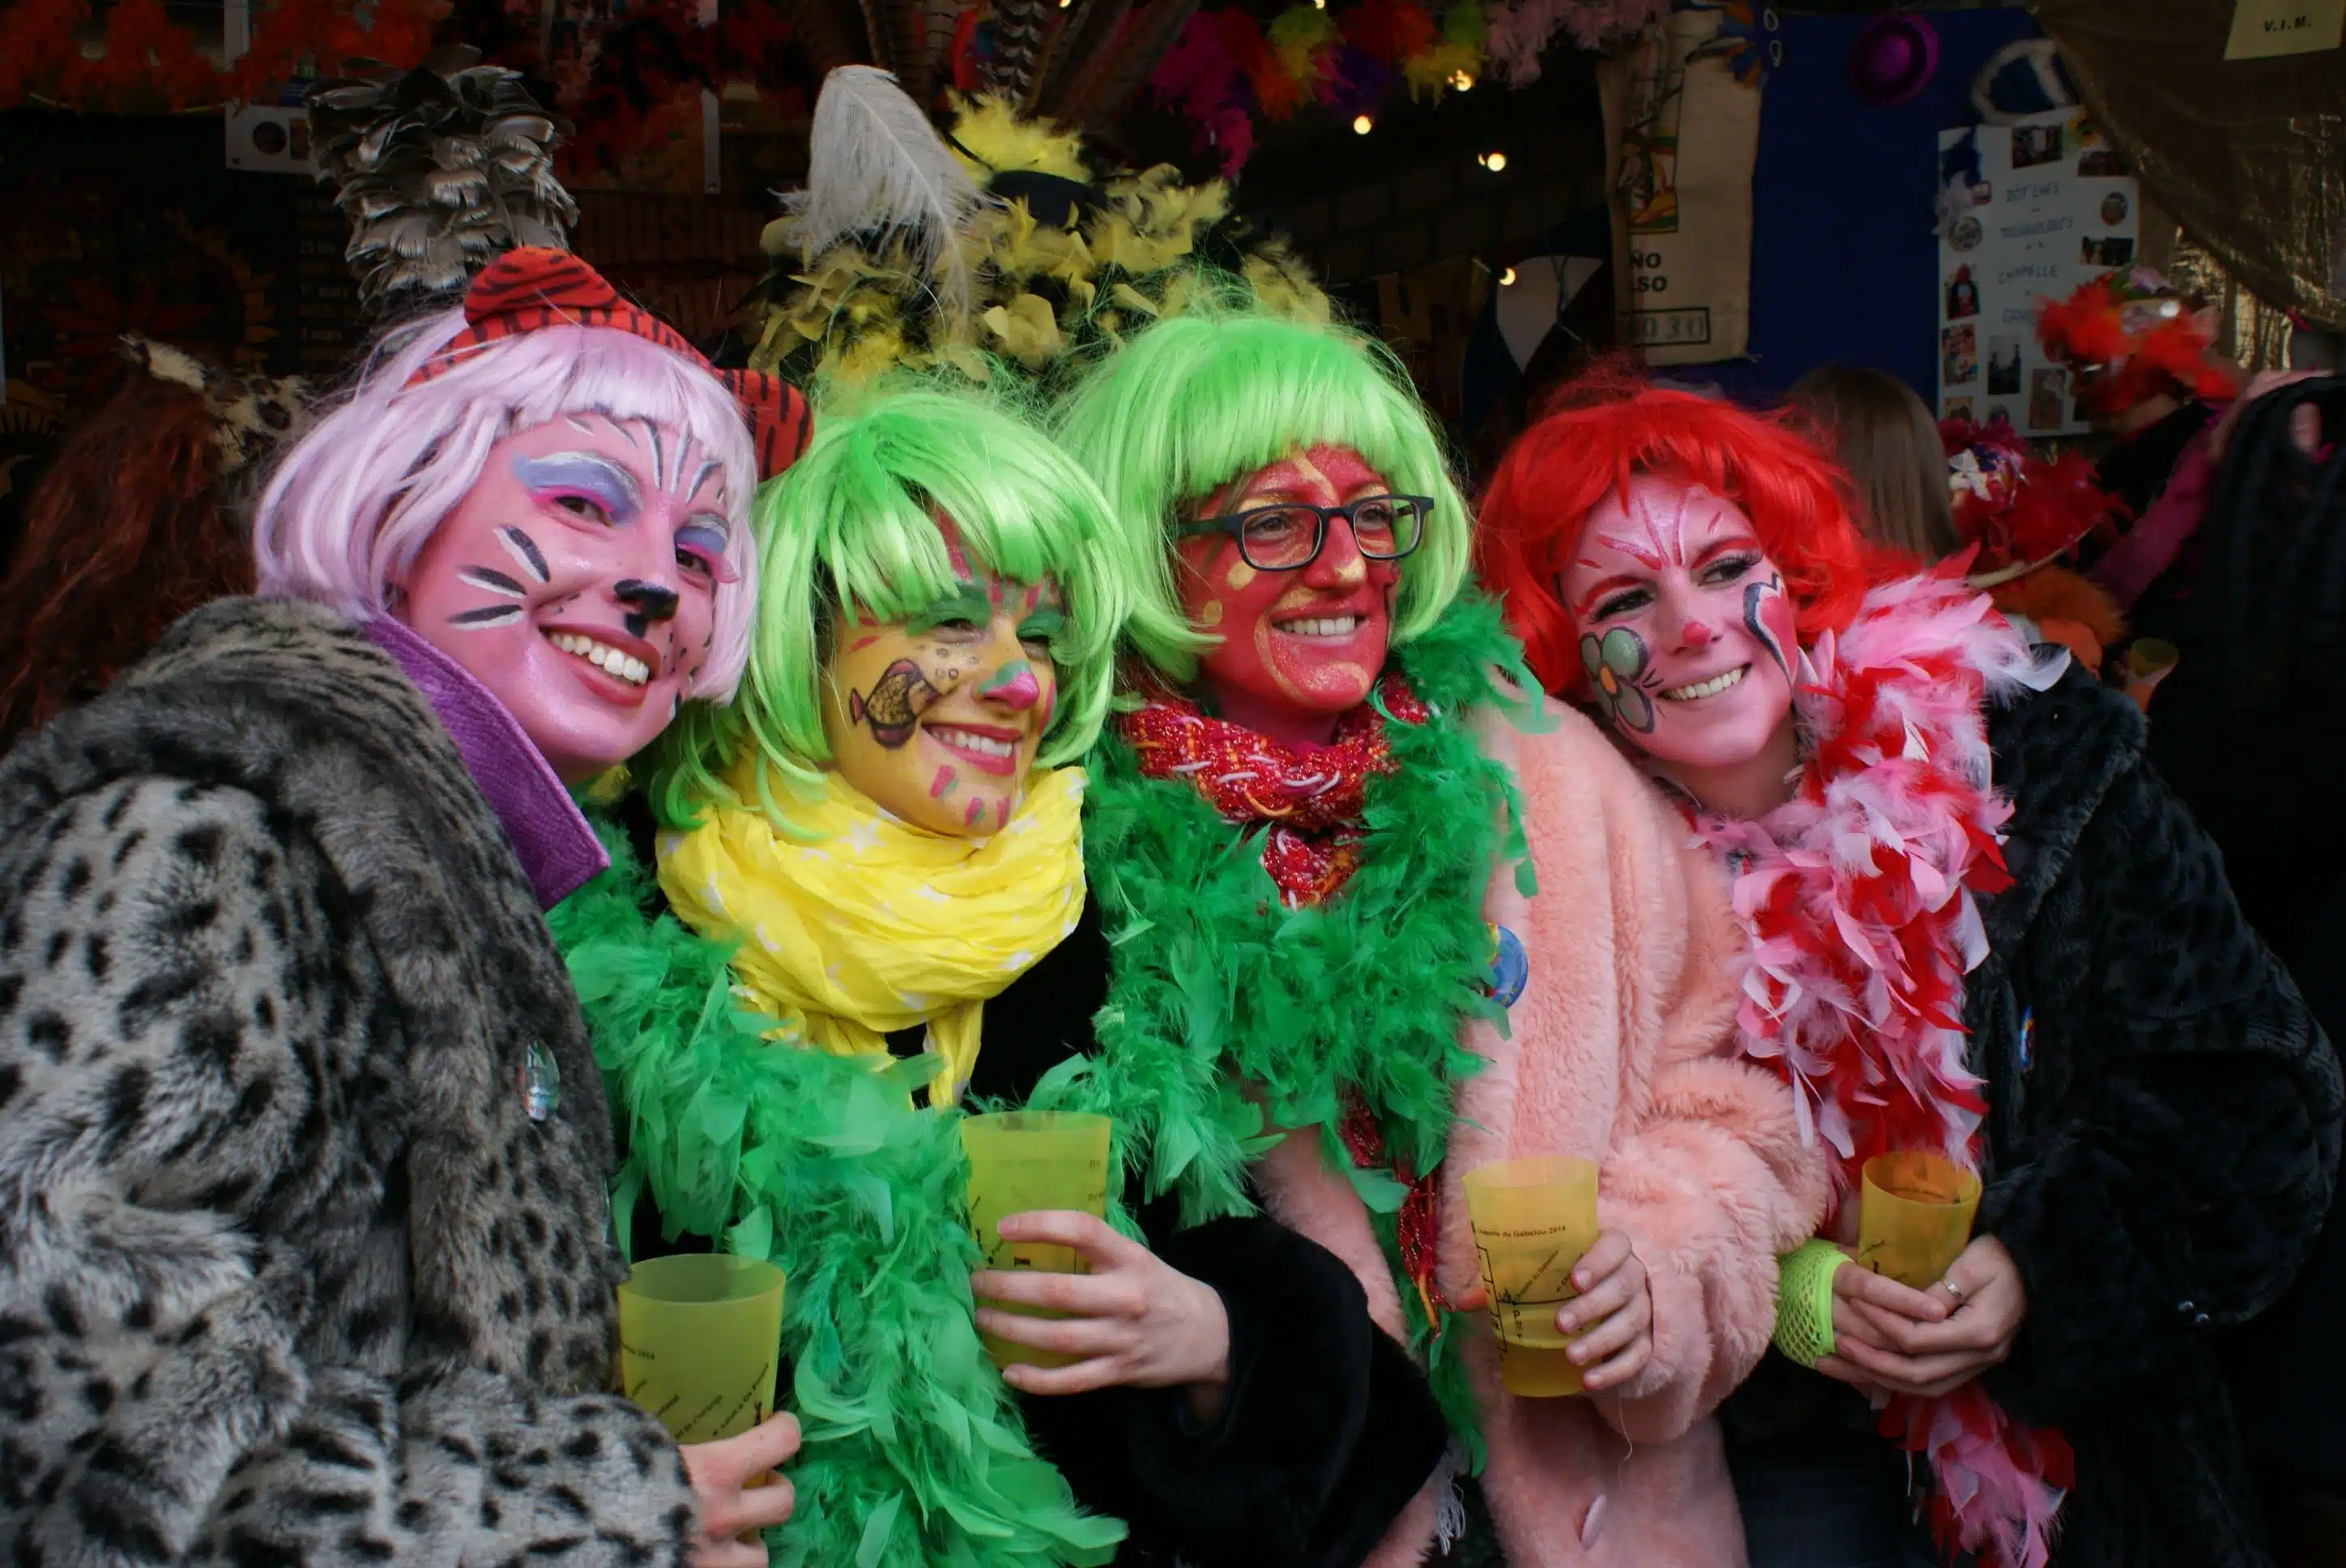
<path fill-rule="evenodd" d="M 1595 1163 L 1501 1160 L 1466 1172 L 1459 1186 L 1499 1341 L 1499 1383 L 1527 1399 L 1581 1392 L 1555 1310 L 1579 1294 L 1572 1266 L 1598 1240 Z"/>

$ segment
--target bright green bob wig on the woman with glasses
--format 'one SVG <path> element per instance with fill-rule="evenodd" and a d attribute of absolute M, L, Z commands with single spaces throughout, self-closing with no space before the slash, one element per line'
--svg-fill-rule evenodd
<path fill-rule="evenodd" d="M 1394 642 L 1422 635 L 1469 570 L 1466 502 L 1443 443 L 1384 345 L 1342 326 L 1192 307 L 1110 354 L 1058 408 L 1060 445 L 1100 480 L 1138 600 L 1126 640 L 1187 682 L 1213 640 L 1180 612 L 1171 527 L 1218 488 L 1290 452 L 1340 445 L 1396 495 L 1433 497 L 1401 563 Z"/>

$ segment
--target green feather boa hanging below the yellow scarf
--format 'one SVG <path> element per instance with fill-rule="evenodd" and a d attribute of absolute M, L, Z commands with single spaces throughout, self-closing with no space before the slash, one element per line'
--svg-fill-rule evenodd
<path fill-rule="evenodd" d="M 612 867 L 549 923 L 577 984 L 626 1163 L 622 1240 L 650 1188 L 673 1230 L 788 1275 L 798 1512 L 769 1533 L 795 1568 L 1105 1563 L 1124 1538 L 1035 1455 L 971 1324 L 950 1118 L 913 1111 L 931 1071 L 767 1041 L 732 991 L 730 945 L 645 919 L 652 879 L 598 823 Z M 673 1233 L 671 1230 L 671 1233 Z"/>

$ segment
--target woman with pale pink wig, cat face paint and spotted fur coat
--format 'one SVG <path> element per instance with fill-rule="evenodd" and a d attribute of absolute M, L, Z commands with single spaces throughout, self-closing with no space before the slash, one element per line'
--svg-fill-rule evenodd
<path fill-rule="evenodd" d="M 748 415 L 744 420 L 744 413 Z M 9 1561 L 765 1561 L 774 1418 L 610 1388 L 570 788 L 730 698 L 805 441 L 514 251 L 274 473 L 260 598 L 0 766 Z"/>

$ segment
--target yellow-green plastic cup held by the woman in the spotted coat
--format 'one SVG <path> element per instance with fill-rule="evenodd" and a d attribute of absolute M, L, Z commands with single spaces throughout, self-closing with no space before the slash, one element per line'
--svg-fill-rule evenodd
<path fill-rule="evenodd" d="M 619 1392 L 680 1444 L 774 1413 L 781 1270 L 725 1252 L 645 1259 L 619 1287 Z"/>

